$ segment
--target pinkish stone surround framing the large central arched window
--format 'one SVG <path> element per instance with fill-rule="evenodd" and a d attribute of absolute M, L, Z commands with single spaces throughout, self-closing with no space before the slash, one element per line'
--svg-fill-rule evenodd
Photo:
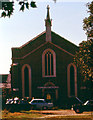
<path fill-rule="evenodd" d="M 54 75 L 45 75 L 45 54 L 48 51 L 50 51 L 53 54 L 53 73 L 54 73 Z M 42 77 L 56 77 L 56 54 L 50 48 L 44 50 L 44 52 L 42 54 Z"/>

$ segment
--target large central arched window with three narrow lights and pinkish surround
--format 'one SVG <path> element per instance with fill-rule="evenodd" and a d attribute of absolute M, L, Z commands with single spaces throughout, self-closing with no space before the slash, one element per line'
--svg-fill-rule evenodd
<path fill-rule="evenodd" d="M 42 54 L 42 76 L 56 77 L 56 54 L 51 49 L 46 49 Z"/>

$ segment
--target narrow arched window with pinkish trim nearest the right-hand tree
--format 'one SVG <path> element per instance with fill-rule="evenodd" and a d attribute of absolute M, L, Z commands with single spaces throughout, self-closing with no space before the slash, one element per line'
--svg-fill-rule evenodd
<path fill-rule="evenodd" d="M 71 63 L 67 67 L 68 97 L 77 96 L 77 68 Z"/>

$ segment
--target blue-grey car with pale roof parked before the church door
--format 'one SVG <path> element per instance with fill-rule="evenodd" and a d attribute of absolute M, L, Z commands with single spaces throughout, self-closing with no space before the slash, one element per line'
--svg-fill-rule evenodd
<path fill-rule="evenodd" d="M 53 103 L 48 103 L 45 99 L 32 99 L 29 104 L 31 105 L 31 109 L 52 109 Z"/>

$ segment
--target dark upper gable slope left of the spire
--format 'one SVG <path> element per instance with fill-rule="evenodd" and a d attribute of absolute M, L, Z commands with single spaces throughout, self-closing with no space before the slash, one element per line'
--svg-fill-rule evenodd
<path fill-rule="evenodd" d="M 12 48 L 12 57 L 13 58 L 22 57 L 24 54 L 29 53 L 30 51 L 36 49 L 38 46 L 44 43 L 45 43 L 45 31 L 37 35 L 35 38 L 28 41 L 21 47 Z"/>

